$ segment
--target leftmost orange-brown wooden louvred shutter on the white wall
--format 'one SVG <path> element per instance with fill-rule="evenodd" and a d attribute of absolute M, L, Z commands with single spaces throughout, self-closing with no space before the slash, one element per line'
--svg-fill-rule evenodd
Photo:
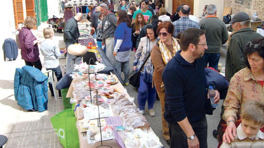
<path fill-rule="evenodd" d="M 18 23 L 24 22 L 22 0 L 13 0 L 13 10 L 14 10 L 15 26 L 17 29 Z"/>

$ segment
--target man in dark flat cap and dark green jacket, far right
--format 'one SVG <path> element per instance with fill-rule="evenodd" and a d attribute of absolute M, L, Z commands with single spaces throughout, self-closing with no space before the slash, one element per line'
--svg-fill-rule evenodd
<path fill-rule="evenodd" d="M 228 81 L 236 72 L 246 67 L 244 49 L 247 42 L 262 37 L 259 33 L 249 28 L 250 18 L 245 12 L 235 14 L 230 23 L 235 32 L 231 35 L 226 53 L 225 76 Z"/>

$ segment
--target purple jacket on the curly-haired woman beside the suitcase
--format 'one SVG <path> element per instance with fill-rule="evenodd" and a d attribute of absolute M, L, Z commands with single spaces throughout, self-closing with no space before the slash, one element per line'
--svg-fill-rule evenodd
<path fill-rule="evenodd" d="M 22 59 L 29 62 L 39 60 L 38 44 L 33 43 L 37 38 L 29 28 L 23 27 L 18 33 L 19 48 L 21 49 Z"/>

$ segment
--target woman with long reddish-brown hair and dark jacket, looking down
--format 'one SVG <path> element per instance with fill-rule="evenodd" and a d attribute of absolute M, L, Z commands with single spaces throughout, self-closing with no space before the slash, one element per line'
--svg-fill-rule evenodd
<path fill-rule="evenodd" d="M 143 28 L 144 25 L 148 24 L 145 22 L 144 16 L 142 13 L 137 13 L 136 19 L 134 23 L 132 23 L 132 44 L 133 44 L 133 49 L 136 52 L 136 44 L 137 44 L 137 38 L 140 34 L 141 29 Z"/>

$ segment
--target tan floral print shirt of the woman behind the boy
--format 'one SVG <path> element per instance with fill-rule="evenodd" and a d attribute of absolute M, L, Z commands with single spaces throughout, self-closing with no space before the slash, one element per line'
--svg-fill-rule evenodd
<path fill-rule="evenodd" d="M 231 78 L 226 99 L 223 103 L 225 111 L 223 120 L 229 116 L 237 120 L 240 116 L 240 107 L 248 100 L 264 103 L 264 89 L 253 77 L 249 68 L 243 68 Z"/>

